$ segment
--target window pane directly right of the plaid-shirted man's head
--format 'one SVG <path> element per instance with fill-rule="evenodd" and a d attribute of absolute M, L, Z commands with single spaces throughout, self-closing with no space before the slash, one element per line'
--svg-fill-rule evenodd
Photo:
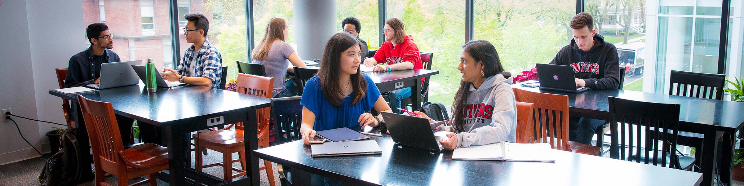
<path fill-rule="evenodd" d="M 209 20 L 208 41 L 222 55 L 222 66 L 228 67 L 228 74 L 222 74 L 226 80 L 237 76 L 235 61 L 248 60 L 246 55 L 246 1 L 242 0 L 179 0 L 179 25 L 183 28 L 187 21 L 183 15 L 202 13 Z M 182 30 L 182 29 L 179 29 Z M 183 31 L 180 31 L 183 32 Z M 193 32 L 191 32 L 193 33 Z M 181 52 L 185 52 L 192 43 L 188 43 L 183 33 L 179 36 Z M 180 55 L 183 57 L 183 54 Z"/>

